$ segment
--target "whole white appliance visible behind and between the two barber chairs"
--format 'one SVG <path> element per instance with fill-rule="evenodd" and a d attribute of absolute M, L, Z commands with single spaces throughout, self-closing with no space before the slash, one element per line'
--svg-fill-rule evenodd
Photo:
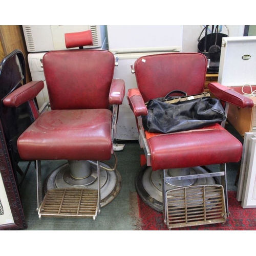
<path fill-rule="evenodd" d="M 131 65 L 137 58 L 145 55 L 176 52 L 182 50 L 182 28 L 180 25 L 108 25 L 109 50 L 118 57 L 118 67 L 114 78 L 125 82 L 127 91 L 137 87 L 135 74 Z M 116 140 L 138 140 L 136 119 L 132 113 L 126 96 L 119 108 Z"/>

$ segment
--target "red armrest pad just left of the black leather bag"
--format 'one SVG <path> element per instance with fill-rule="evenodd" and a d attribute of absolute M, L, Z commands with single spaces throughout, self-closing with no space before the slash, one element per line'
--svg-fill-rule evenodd
<path fill-rule="evenodd" d="M 129 101 L 130 108 L 136 117 L 147 115 L 147 108 L 139 89 L 129 89 L 127 92 L 127 99 Z"/>

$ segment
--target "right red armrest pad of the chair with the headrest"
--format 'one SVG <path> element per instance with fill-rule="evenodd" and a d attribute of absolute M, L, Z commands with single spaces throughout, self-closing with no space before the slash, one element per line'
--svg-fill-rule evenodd
<path fill-rule="evenodd" d="M 121 105 L 125 94 L 125 84 L 122 79 L 113 79 L 110 88 L 109 101 L 111 105 Z"/>

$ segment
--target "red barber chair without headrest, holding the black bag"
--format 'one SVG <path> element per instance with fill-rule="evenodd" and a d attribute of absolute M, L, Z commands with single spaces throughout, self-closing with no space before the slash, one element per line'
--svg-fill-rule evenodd
<path fill-rule="evenodd" d="M 144 102 L 150 99 L 173 90 L 188 96 L 203 93 L 206 69 L 207 59 L 200 53 L 167 53 L 141 57 L 132 70 L 138 88 L 130 89 L 127 98 L 146 157 L 136 190 L 147 205 L 163 212 L 169 229 L 223 223 L 228 217 L 226 163 L 240 161 L 242 144 L 224 129 L 225 122 L 185 133 L 156 134 L 145 131 L 141 120 L 147 115 Z M 219 83 L 208 88 L 226 106 L 253 106 Z"/>

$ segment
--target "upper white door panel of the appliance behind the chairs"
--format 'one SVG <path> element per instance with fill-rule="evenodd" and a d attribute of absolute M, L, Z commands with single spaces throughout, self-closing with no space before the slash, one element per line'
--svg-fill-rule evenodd
<path fill-rule="evenodd" d="M 113 53 L 182 50 L 183 25 L 108 25 L 107 31 Z"/>

